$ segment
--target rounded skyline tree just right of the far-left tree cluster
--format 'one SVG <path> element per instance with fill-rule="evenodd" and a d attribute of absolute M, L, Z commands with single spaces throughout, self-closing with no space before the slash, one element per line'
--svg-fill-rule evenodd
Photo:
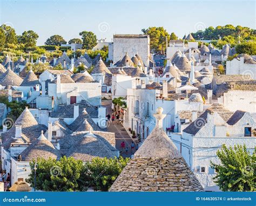
<path fill-rule="evenodd" d="M 32 30 L 24 31 L 21 36 L 18 36 L 18 43 L 24 44 L 25 48 L 35 47 L 38 37 Z"/>

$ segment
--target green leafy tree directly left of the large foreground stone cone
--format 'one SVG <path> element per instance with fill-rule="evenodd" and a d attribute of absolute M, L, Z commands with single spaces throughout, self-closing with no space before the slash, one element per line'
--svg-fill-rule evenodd
<path fill-rule="evenodd" d="M 129 158 L 122 156 L 117 159 L 94 158 L 91 162 L 85 164 L 85 180 L 87 187 L 93 187 L 94 190 L 107 191 L 112 186 L 118 175 L 129 162 Z"/>

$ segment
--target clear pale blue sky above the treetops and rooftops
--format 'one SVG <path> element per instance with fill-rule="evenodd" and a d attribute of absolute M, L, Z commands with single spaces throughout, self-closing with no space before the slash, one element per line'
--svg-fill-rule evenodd
<path fill-rule="evenodd" d="M 164 26 L 179 37 L 197 29 L 241 25 L 255 29 L 255 1 L 67 1 L 0 0 L 0 23 L 11 25 L 18 35 L 38 33 L 38 45 L 51 35 L 65 40 L 92 31 L 111 40 L 114 33 L 142 33 L 149 26 Z"/>

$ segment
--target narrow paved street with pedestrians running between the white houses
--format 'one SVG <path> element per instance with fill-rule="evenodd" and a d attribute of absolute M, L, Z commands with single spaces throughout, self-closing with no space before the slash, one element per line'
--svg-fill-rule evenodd
<path fill-rule="evenodd" d="M 112 100 L 102 100 L 102 106 L 106 107 L 106 114 L 112 115 L 112 108 L 111 108 Z M 128 147 L 128 153 L 126 154 L 125 151 L 120 154 L 123 157 L 131 157 L 131 143 L 132 139 L 127 134 L 125 128 L 119 123 L 117 124 L 116 121 L 112 122 L 107 125 L 107 132 L 113 132 L 116 135 L 116 148 L 120 150 L 120 145 L 122 141 L 125 142 L 125 147 Z M 135 152 L 135 151 L 134 151 Z M 133 153 L 134 153 L 133 152 Z"/>

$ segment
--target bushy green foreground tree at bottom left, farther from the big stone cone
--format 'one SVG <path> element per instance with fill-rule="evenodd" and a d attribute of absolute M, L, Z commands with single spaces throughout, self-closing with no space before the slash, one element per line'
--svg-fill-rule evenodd
<path fill-rule="evenodd" d="M 26 179 L 34 187 L 34 167 L 36 170 L 36 189 L 44 191 L 83 191 L 79 184 L 84 171 L 83 162 L 73 157 L 61 157 L 59 161 L 53 159 L 38 159 L 30 163 L 31 173 Z"/>

